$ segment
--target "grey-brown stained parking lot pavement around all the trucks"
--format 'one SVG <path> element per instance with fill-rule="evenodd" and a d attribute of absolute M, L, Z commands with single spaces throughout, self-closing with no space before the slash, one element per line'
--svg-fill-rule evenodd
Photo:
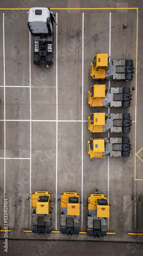
<path fill-rule="evenodd" d="M 60 205 L 56 199 L 64 191 L 72 190 L 80 193 L 83 199 L 80 230 L 86 231 L 87 195 L 98 188 L 108 196 L 111 204 L 108 231 L 116 232 L 114 236 L 107 236 L 104 240 L 142 242 L 141 236 L 133 237 L 127 234 L 127 232 L 143 230 L 141 211 L 143 143 L 142 118 L 140 118 L 142 115 L 142 2 L 88 1 L 87 3 L 87 1 L 77 0 L 60 3 L 49 1 L 48 4 L 48 7 L 51 7 L 55 14 L 57 13 L 58 18 L 57 38 L 56 26 L 54 26 L 54 66 L 48 69 L 40 69 L 33 65 L 33 38 L 29 37 L 27 27 L 28 10 L 0 10 L 0 31 L 2 35 L 3 31 L 5 32 L 5 44 L 3 36 L 0 38 L 1 194 L 4 198 L 5 188 L 5 197 L 8 198 L 9 205 L 9 228 L 12 229 L 9 238 L 39 239 L 37 234 L 22 231 L 31 228 L 30 205 L 27 198 L 30 196 L 30 191 L 33 193 L 38 190 L 47 190 L 52 193 L 53 230 L 59 230 L 60 227 Z M 39 6 L 39 2 L 34 0 L 10 3 L 1 1 L 0 4 L 1 8 L 35 6 Z M 40 1 L 40 6 L 47 7 L 45 1 Z M 138 17 L 136 9 L 70 9 L 137 7 Z M 54 10 L 52 8 L 69 9 Z M 3 20 L 5 20 L 5 28 Z M 111 27 L 115 26 L 110 30 L 111 40 L 109 38 L 110 22 Z M 121 26 L 124 22 L 128 24 L 125 30 Z M 92 36 L 102 31 L 105 32 L 94 37 L 85 47 L 84 61 L 81 51 L 66 64 L 66 61 L 81 50 Z M 137 33 L 138 37 L 136 37 Z M 58 47 L 57 60 L 56 46 Z M 135 68 L 137 67 L 133 81 L 111 81 L 111 87 L 130 87 L 131 89 L 135 86 L 136 88 L 132 91 L 132 103 L 127 110 L 133 120 L 131 133 L 128 134 L 132 151 L 128 159 L 106 157 L 102 161 L 101 159 L 90 161 L 87 154 L 87 140 L 90 137 L 87 129 L 88 115 L 96 111 L 108 112 L 105 108 L 91 110 L 88 106 L 87 92 L 94 83 L 90 79 L 90 62 L 97 52 L 109 53 L 109 46 L 111 59 L 132 58 Z M 3 47 L 5 47 L 5 78 Z M 29 55 L 31 55 L 31 69 Z M 56 77 L 57 70 L 58 77 Z M 56 81 L 58 81 L 58 108 Z M 125 110 L 110 109 L 110 113 L 115 112 L 123 113 Z M 107 137 L 108 134 L 97 136 Z M 110 136 L 116 135 L 110 134 Z M 56 138 L 58 138 L 57 141 Z M 58 150 L 57 156 L 56 150 Z M 131 196 L 135 196 L 136 200 L 132 202 Z M 3 199 L 0 215 L 1 228 L 3 228 Z M 121 216 L 123 221 L 120 221 Z M 0 235 L 3 239 L 4 234 Z M 65 236 L 55 233 L 44 238 L 66 239 Z M 85 234 L 73 236 L 72 239 L 94 240 Z M 12 246 L 10 243 L 9 247 Z M 55 249 L 55 246 L 53 247 Z"/>

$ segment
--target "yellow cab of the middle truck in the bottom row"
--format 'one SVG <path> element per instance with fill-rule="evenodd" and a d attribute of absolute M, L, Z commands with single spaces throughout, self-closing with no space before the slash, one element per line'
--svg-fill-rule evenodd
<path fill-rule="evenodd" d="M 72 198 L 76 198 L 77 203 L 72 203 Z M 80 195 L 78 193 L 62 193 L 61 212 L 62 208 L 67 208 L 67 216 L 80 216 Z"/>

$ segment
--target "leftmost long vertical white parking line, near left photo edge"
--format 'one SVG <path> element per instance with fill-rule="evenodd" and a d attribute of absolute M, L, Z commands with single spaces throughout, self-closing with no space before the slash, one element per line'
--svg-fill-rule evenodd
<path fill-rule="evenodd" d="M 3 13 L 3 57 L 4 57 L 4 199 L 6 194 L 6 66 L 5 66 L 5 13 Z"/>

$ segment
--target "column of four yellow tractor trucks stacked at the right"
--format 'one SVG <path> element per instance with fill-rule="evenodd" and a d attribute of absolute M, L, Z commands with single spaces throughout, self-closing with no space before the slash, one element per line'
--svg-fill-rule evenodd
<path fill-rule="evenodd" d="M 109 61 L 108 54 L 96 54 L 90 66 L 90 76 L 97 80 L 131 81 L 134 77 L 133 60 Z M 90 107 L 128 108 L 132 95 L 129 87 L 110 88 L 106 84 L 94 84 L 88 91 Z M 132 120 L 129 113 L 91 113 L 88 116 L 88 130 L 96 133 L 129 133 Z M 129 157 L 131 143 L 128 137 L 89 138 L 88 154 L 92 158 Z"/>

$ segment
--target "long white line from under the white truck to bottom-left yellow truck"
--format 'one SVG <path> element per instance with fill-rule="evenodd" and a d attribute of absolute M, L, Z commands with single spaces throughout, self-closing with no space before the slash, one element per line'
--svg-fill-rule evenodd
<path fill-rule="evenodd" d="M 30 197 L 31 197 L 31 33 L 29 32 L 29 98 L 30 98 Z M 31 206 L 30 206 L 31 208 Z M 29 218 L 29 227 L 31 228 L 31 210 Z"/>

